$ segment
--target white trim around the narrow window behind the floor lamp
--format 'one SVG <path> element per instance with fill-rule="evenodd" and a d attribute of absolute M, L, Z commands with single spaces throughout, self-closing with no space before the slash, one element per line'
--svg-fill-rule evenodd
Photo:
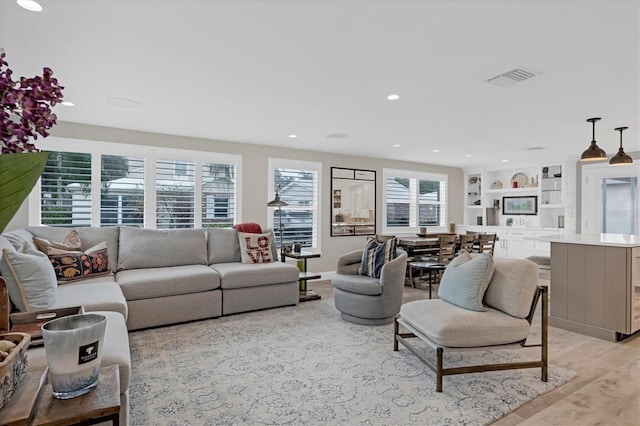
<path fill-rule="evenodd" d="M 291 160 L 287 158 L 273 158 L 269 157 L 268 161 L 268 179 L 267 179 L 267 202 L 273 200 L 275 198 L 275 169 L 283 168 L 283 169 L 298 169 L 298 170 L 311 170 L 317 173 L 317 193 L 316 196 L 316 207 L 315 214 L 313 218 L 312 228 L 314 230 L 314 237 L 312 237 L 312 241 L 315 241 L 315 245 L 311 247 L 306 247 L 305 251 L 310 252 L 318 252 L 320 247 L 322 247 L 321 243 L 321 229 L 320 224 L 322 223 L 322 163 L 319 161 L 305 161 L 305 160 Z M 267 223 L 273 223 L 275 208 L 267 207 L 265 203 L 265 207 L 267 208 Z M 273 230 L 274 232 L 278 232 L 277 229 Z"/>

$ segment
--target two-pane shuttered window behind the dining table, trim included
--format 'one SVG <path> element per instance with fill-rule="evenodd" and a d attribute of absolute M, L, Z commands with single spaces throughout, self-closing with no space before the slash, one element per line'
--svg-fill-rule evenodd
<path fill-rule="evenodd" d="M 446 175 L 385 169 L 383 178 L 385 232 L 445 227 Z"/>

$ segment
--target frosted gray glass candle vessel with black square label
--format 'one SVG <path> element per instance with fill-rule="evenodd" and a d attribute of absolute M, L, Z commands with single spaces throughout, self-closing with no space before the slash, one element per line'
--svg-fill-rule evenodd
<path fill-rule="evenodd" d="M 70 399 L 98 384 L 107 317 L 89 313 L 70 315 L 42 326 L 53 396 Z"/>

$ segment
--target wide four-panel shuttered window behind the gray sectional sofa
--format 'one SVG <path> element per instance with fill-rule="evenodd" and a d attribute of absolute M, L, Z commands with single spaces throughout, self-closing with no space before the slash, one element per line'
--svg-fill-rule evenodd
<path fill-rule="evenodd" d="M 38 200 L 30 203 L 39 206 L 32 224 L 167 229 L 236 222 L 240 156 L 55 137 L 47 146 L 64 150 L 51 151 Z"/>

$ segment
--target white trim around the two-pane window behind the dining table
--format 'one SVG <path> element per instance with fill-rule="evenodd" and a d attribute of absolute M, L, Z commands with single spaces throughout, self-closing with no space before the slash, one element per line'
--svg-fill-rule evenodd
<path fill-rule="evenodd" d="M 444 217 L 441 218 L 440 222 L 442 225 L 439 226 L 429 226 L 429 229 L 435 232 L 447 232 L 447 223 L 449 222 L 449 176 L 444 173 L 432 173 L 432 172 L 416 172 L 412 170 L 399 170 L 399 169 L 382 169 L 382 232 L 384 233 L 392 233 L 392 234 L 403 234 L 403 233 L 417 233 L 420 229 L 420 225 L 418 224 L 418 210 L 420 206 L 419 194 L 416 191 L 415 199 L 409 200 L 409 226 L 400 227 L 400 226 L 387 226 L 387 179 L 388 178 L 404 178 L 404 179 L 414 179 L 414 180 L 433 180 L 444 182 L 445 191 L 444 201 L 438 201 L 433 204 L 439 204 L 444 206 Z"/>

